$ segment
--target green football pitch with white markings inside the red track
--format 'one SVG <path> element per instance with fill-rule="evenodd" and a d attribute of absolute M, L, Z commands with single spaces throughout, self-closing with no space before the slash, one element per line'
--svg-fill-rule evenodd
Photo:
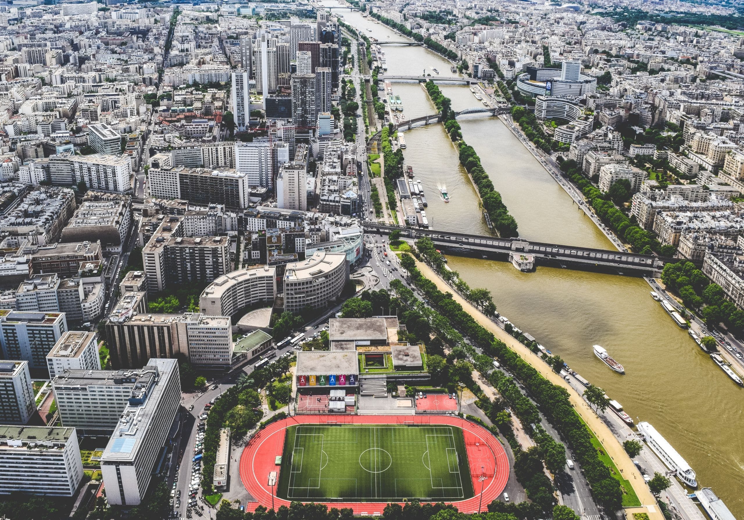
<path fill-rule="evenodd" d="M 286 430 L 277 495 L 287 500 L 473 496 L 460 428 L 304 425 Z"/>

